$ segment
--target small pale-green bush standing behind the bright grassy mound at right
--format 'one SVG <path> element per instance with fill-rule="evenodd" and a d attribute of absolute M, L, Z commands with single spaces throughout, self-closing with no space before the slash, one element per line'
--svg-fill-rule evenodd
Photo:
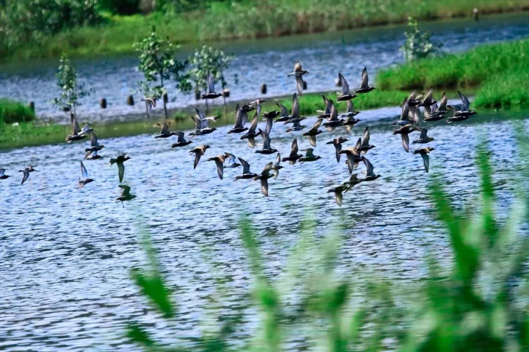
<path fill-rule="evenodd" d="M 406 42 L 400 47 L 406 61 L 427 58 L 441 52 L 442 44 L 433 44 L 430 33 L 419 31 L 416 18 L 408 17 L 408 30 L 404 32 Z"/>

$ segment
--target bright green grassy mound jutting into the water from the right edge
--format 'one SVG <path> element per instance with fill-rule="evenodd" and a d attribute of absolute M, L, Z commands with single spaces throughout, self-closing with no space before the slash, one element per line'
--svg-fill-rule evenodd
<path fill-rule="evenodd" d="M 478 88 L 475 107 L 529 106 L 529 40 L 477 46 L 382 70 L 383 90 Z"/>

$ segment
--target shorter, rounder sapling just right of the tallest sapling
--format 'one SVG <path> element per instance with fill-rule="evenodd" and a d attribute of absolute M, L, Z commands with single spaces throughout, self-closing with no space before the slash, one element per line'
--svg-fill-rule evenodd
<path fill-rule="evenodd" d="M 213 79 L 221 82 L 222 89 L 226 88 L 226 80 L 224 79 L 224 70 L 230 66 L 232 60 L 231 56 L 226 55 L 222 50 L 213 49 L 211 46 L 204 45 L 202 49 L 196 50 L 195 53 L 189 56 L 189 77 L 195 85 L 195 93 L 206 90 L 207 75 L 211 72 Z M 224 98 L 224 107 L 226 106 L 226 98 Z"/>

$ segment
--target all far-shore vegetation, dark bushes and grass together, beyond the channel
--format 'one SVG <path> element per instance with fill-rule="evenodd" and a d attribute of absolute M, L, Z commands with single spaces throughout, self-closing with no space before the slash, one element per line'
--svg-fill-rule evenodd
<path fill-rule="evenodd" d="M 38 6 L 45 11 L 37 11 Z M 9 35 L 0 37 L 0 58 L 131 53 L 132 43 L 149 35 L 152 25 L 162 37 L 183 43 L 402 23 L 408 16 L 471 16 L 474 7 L 489 13 L 526 6 L 525 0 L 346 0 L 339 7 L 333 0 L 5 0 L 0 2 L 0 35 Z"/>

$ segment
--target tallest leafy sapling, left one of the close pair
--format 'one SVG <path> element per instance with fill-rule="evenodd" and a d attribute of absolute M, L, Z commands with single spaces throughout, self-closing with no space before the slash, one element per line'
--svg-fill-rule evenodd
<path fill-rule="evenodd" d="M 141 91 L 145 96 L 159 98 L 166 92 L 165 84 L 168 80 L 174 80 L 176 88 L 183 93 L 191 91 L 188 75 L 185 73 L 187 61 L 176 59 L 178 44 L 162 40 L 156 34 L 154 27 L 151 34 L 140 42 L 134 43 L 136 51 L 140 54 L 140 65 L 138 69 L 143 72 L 144 81 L 140 82 Z M 151 83 L 156 82 L 154 85 Z M 163 99 L 162 99 L 163 100 Z M 163 111 L 167 116 L 167 103 L 163 100 Z"/>

